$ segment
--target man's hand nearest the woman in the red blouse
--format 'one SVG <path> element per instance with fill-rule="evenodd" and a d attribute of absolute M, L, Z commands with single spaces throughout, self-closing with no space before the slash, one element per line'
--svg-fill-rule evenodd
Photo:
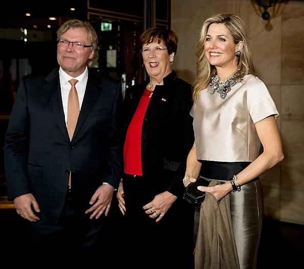
<path fill-rule="evenodd" d="M 113 192 L 114 188 L 110 184 L 103 184 L 95 191 L 89 202 L 92 206 L 85 211 L 86 214 L 93 211 L 93 213 L 90 215 L 90 219 L 93 217 L 96 219 L 99 218 L 103 212 L 105 212 L 105 216 L 108 215 Z"/>

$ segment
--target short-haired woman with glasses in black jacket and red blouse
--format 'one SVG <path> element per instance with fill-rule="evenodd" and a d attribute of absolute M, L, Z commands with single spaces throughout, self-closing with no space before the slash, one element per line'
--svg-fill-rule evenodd
<path fill-rule="evenodd" d="M 117 193 L 124 217 L 125 265 L 193 266 L 194 208 L 182 199 L 194 142 L 192 86 L 172 70 L 177 35 L 151 28 L 140 37 L 149 79 L 123 103 L 124 175 Z"/>

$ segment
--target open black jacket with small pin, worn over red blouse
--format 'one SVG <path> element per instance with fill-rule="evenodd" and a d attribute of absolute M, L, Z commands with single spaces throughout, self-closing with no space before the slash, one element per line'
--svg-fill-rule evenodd
<path fill-rule="evenodd" d="M 133 85 L 123 102 L 123 139 L 149 79 Z M 194 143 L 192 86 L 174 71 L 156 85 L 142 128 L 142 169 L 149 179 L 152 196 L 168 190 L 176 196 L 183 191 L 186 158 Z M 168 171 L 174 173 L 166 173 Z"/>

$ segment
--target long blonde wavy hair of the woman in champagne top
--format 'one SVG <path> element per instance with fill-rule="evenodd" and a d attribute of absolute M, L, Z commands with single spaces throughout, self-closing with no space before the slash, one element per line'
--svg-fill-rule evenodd
<path fill-rule="evenodd" d="M 244 45 L 241 50 L 241 55 L 239 57 L 238 69 L 240 69 L 241 75 L 239 77 L 244 77 L 247 74 L 254 75 L 254 66 L 252 61 L 251 52 L 249 50 L 249 38 L 247 34 L 247 29 L 245 23 L 241 18 L 234 14 L 223 13 L 214 15 L 206 19 L 202 25 L 199 41 L 197 44 L 197 61 L 196 61 L 196 71 L 197 79 L 193 84 L 193 100 L 197 100 L 197 94 L 205 89 L 212 77 L 217 75 L 217 70 L 214 65 L 209 64 L 205 56 L 205 42 L 206 35 L 209 29 L 209 26 L 212 23 L 223 23 L 231 33 L 233 41 L 235 44 L 238 44 L 240 41 L 244 42 Z"/>

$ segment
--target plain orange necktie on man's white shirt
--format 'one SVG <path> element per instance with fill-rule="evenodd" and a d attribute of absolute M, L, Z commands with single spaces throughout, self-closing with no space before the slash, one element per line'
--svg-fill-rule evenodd
<path fill-rule="evenodd" d="M 69 140 L 72 140 L 80 111 L 78 93 L 75 88 L 78 80 L 72 79 L 68 82 L 72 85 L 72 87 L 71 90 L 69 90 L 67 100 L 67 132 Z M 71 172 L 69 173 L 68 186 L 71 186 Z"/>

